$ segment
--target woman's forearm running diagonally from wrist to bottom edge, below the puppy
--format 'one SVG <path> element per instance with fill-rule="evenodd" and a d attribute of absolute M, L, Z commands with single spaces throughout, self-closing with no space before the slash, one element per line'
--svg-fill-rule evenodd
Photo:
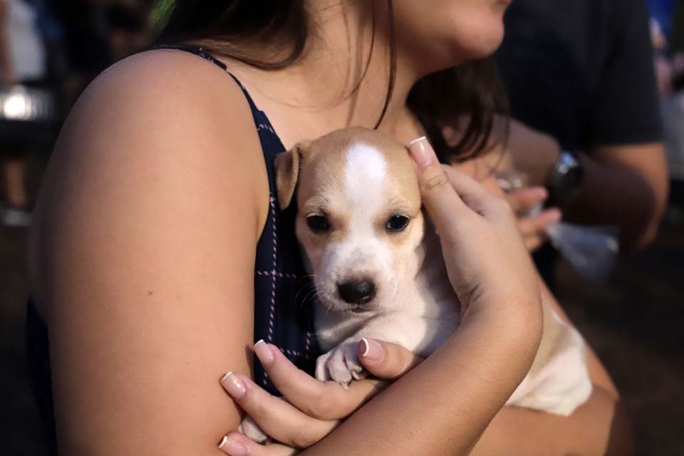
<path fill-rule="evenodd" d="M 469 315 L 444 346 L 303 454 L 470 452 L 532 363 L 536 345 L 522 339 L 538 343 L 541 333 L 529 325 L 522 331 L 539 316 L 520 312 L 511 317 L 518 326 L 504 314 Z"/>

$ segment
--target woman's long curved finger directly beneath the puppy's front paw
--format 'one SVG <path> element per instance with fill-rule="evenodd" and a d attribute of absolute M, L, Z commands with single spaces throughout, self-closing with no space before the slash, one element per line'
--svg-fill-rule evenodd
<path fill-rule="evenodd" d="M 321 382 L 264 341 L 254 345 L 254 353 L 284 398 L 306 415 L 321 420 L 346 418 L 384 387 L 383 381 L 376 379 L 352 382 L 348 390 L 333 381 Z"/>

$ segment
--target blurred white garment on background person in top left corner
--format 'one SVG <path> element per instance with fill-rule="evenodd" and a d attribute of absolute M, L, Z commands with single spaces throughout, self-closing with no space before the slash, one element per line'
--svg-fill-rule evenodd
<path fill-rule="evenodd" d="M 36 11 L 24 0 L 5 0 L 7 4 L 5 39 L 9 64 L 20 81 L 46 76 L 45 45 L 36 28 Z"/>

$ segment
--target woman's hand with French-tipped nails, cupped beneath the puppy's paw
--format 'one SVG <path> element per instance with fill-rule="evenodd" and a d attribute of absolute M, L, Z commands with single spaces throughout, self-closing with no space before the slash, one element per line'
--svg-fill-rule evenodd
<path fill-rule="evenodd" d="M 219 447 L 233 456 L 293 455 L 299 448 L 314 445 L 385 388 L 388 381 L 422 361 L 395 344 L 362 340 L 358 358 L 375 378 L 352 382 L 346 390 L 336 382 L 321 382 L 300 371 L 272 344 L 259 341 L 254 353 L 283 398 L 267 393 L 242 373 L 224 375 L 221 384 L 261 430 L 280 443 L 259 445 L 239 432 L 230 432 Z"/>

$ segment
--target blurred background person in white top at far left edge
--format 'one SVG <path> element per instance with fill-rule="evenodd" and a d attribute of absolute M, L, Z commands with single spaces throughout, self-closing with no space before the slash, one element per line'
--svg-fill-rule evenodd
<path fill-rule="evenodd" d="M 26 152 L 38 123 L 16 120 L 21 110 L 11 103 L 9 90 L 17 86 L 41 86 L 46 78 L 46 52 L 36 26 L 37 14 L 24 0 L 0 0 L 0 86 L 6 95 L 0 122 L 2 222 L 27 226 L 31 202 L 26 191 Z M 9 107 L 7 105 L 10 105 Z"/>

